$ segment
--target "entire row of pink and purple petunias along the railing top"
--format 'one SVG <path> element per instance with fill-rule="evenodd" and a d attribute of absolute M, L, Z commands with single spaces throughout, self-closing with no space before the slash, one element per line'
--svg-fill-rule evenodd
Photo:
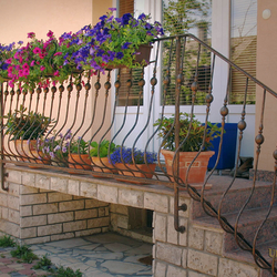
<path fill-rule="evenodd" d="M 150 44 L 163 34 L 160 22 L 151 24 L 144 13 L 135 19 L 131 13 L 114 18 L 110 9 L 94 27 L 85 25 L 76 33 L 64 32 L 55 38 L 48 32 L 48 40 L 28 33 L 30 41 L 3 45 L 0 43 L 0 81 L 21 89 L 49 86 L 51 81 L 64 82 L 72 74 L 89 75 L 104 72 L 107 64 L 134 68 L 140 44 Z M 147 63 L 147 62 L 145 62 Z M 144 64 L 146 65 L 146 64 Z"/>

